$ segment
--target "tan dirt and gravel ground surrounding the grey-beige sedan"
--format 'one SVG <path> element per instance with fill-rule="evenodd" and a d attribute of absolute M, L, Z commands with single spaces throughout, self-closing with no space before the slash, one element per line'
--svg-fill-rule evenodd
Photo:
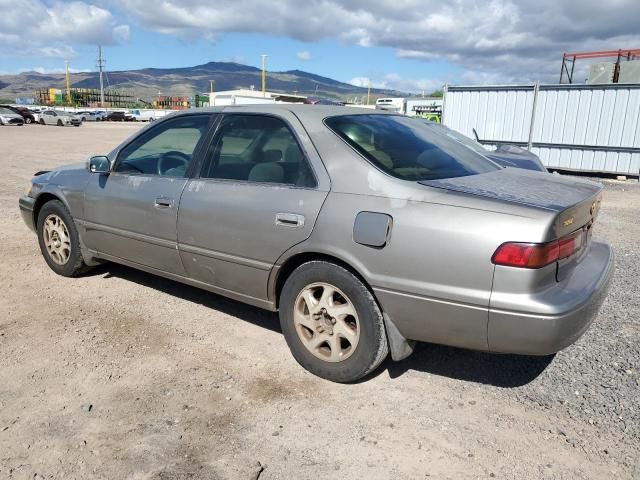
<path fill-rule="evenodd" d="M 595 421 L 545 402 L 603 383 L 580 363 L 562 376 L 599 341 L 596 325 L 555 359 L 421 344 L 338 385 L 296 364 L 275 314 L 112 264 L 56 276 L 18 197 L 35 171 L 107 153 L 137 128 L 0 127 L 0 478 L 640 478 L 638 356 L 619 380 L 630 393 L 611 400 L 636 409 L 625 428 L 599 420 L 608 397 L 585 397 L 604 409 Z M 636 182 L 607 187 L 598 235 L 627 242 L 633 264 L 639 218 Z M 614 285 L 636 285 L 627 304 L 608 300 L 596 324 L 637 345 L 629 271 Z"/>

